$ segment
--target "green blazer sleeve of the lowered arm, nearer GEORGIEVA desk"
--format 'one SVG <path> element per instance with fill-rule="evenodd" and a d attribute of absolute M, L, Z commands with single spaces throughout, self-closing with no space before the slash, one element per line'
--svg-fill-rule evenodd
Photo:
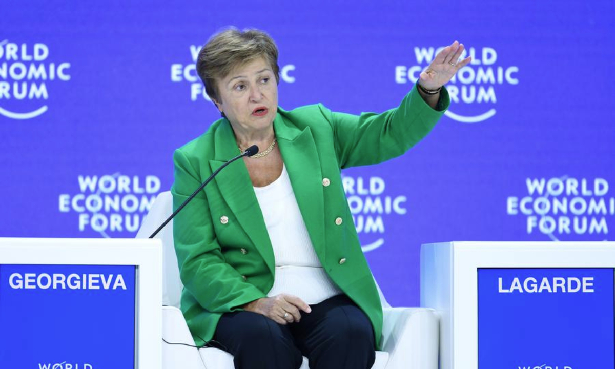
<path fill-rule="evenodd" d="M 201 178 L 181 149 L 173 154 L 173 162 L 175 182 L 171 192 L 175 209 L 200 186 Z M 224 260 L 204 191 L 175 216 L 173 239 L 181 282 L 207 311 L 236 311 L 250 301 L 266 297 Z"/>

